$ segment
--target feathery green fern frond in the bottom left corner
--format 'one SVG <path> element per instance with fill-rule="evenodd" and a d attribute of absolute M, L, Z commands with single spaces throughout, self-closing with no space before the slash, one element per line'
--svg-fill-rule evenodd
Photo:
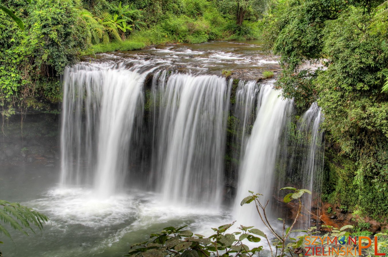
<path fill-rule="evenodd" d="M 42 230 L 43 224 L 49 221 L 49 218 L 44 214 L 37 212 L 32 208 L 22 206 L 19 203 L 0 200 L 0 221 L 3 224 L 9 224 L 14 230 L 21 231 L 25 235 L 28 235 L 25 229 L 35 233 L 31 227 L 31 225 L 33 225 Z M 1 223 L 0 233 L 11 237 L 10 233 Z"/>

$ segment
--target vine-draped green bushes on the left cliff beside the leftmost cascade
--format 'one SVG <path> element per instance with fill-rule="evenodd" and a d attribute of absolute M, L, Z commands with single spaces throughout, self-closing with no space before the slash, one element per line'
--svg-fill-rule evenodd
<path fill-rule="evenodd" d="M 24 20 L 25 30 L 5 19 L 0 12 L 0 103 L 24 108 L 53 97 L 58 81 L 67 65 L 78 61 L 81 50 L 87 48 L 87 24 L 80 17 L 80 2 L 66 0 L 47 2 L 36 0 L 7 1 L 12 11 Z"/>

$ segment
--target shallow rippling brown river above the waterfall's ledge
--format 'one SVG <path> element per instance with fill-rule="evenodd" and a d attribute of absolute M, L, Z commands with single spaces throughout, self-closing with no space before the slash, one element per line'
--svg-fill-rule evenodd
<path fill-rule="evenodd" d="M 244 80 L 256 80 L 263 71 L 279 70 L 278 58 L 267 55 L 258 40 L 156 46 L 138 51 L 97 54 L 96 58 L 100 61 L 125 61 L 129 66 L 152 65 L 215 75 L 221 75 L 226 70 L 233 72 L 232 77 Z M 85 60 L 95 61 L 95 58 L 85 57 Z"/>

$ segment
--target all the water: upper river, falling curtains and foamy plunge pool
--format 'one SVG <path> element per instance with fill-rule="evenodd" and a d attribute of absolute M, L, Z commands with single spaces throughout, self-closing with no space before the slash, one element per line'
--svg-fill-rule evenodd
<path fill-rule="evenodd" d="M 6 241 L 2 251 L 121 256 L 166 226 L 187 224 L 203 235 L 236 219 L 260 226 L 253 206 L 239 203 L 248 190 L 273 200 L 293 105 L 279 97 L 275 80 L 256 79 L 277 68 L 260 45 L 228 41 L 107 53 L 68 67 L 61 168 L 10 168 L 0 181 L 4 199 L 23 200 L 51 225 L 38 236 L 14 235 L 18 247 Z M 225 79 L 223 69 L 242 80 Z M 300 162 L 311 189 L 322 165 L 321 119 L 316 105 L 303 115 L 306 157 L 296 158 L 294 144 L 289 160 Z"/>

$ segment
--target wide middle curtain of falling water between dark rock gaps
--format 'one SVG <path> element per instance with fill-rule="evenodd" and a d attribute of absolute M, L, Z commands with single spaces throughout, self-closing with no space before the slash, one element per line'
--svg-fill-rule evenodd
<path fill-rule="evenodd" d="M 166 202 L 217 207 L 223 189 L 225 78 L 165 74 L 152 89 L 157 153 L 154 172 Z"/>

